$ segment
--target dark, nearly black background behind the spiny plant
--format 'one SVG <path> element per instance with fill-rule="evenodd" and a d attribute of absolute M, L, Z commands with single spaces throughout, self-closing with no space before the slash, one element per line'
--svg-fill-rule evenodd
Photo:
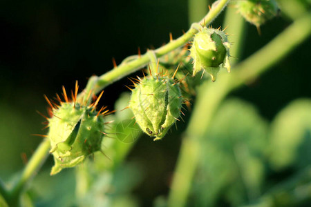
<path fill-rule="evenodd" d="M 280 14 L 281 15 L 281 14 Z M 186 0 L 160 1 L 1 1 L 0 2 L 0 177 L 8 180 L 24 166 L 41 137 L 46 114 L 43 95 L 54 97 L 62 85 L 72 89 L 76 80 L 84 88 L 88 77 L 102 75 L 129 55 L 158 48 L 189 28 Z M 223 15 L 212 25 L 221 25 Z M 269 42 L 290 24 L 281 16 L 262 26 L 262 34 L 247 24 L 242 59 Z M 305 41 L 254 83 L 234 91 L 256 105 L 265 119 L 297 97 L 311 97 L 310 41 Z M 102 103 L 113 110 L 122 91 L 122 79 L 105 89 Z M 178 124 L 183 128 L 182 124 Z M 182 131 L 181 131 L 182 132 Z M 180 135 L 153 143 L 142 137 L 132 150 L 146 165 L 151 183 L 143 182 L 137 195 L 148 204 L 166 193 L 173 171 Z M 46 167 L 52 166 L 48 159 Z M 167 177 L 167 183 L 158 182 Z M 150 185 L 153 185 L 151 190 Z"/>

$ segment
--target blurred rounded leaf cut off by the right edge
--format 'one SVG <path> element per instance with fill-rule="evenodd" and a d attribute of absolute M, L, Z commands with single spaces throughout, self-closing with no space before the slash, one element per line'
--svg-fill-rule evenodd
<path fill-rule="evenodd" d="M 311 164 L 311 100 L 286 106 L 272 122 L 270 162 L 276 170 Z"/>

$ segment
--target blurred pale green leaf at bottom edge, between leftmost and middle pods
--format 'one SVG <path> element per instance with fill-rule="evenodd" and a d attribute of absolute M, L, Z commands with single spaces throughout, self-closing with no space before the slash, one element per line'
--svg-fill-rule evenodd
<path fill-rule="evenodd" d="M 91 162 L 84 163 L 82 168 L 77 170 L 77 184 L 87 179 L 88 186 L 84 188 L 84 195 L 81 190 L 77 195 L 78 206 L 122 206 L 129 202 L 129 206 L 137 206 L 135 197 L 130 196 L 131 190 L 135 187 L 142 175 L 136 164 L 123 164 L 117 170 L 96 170 Z"/>

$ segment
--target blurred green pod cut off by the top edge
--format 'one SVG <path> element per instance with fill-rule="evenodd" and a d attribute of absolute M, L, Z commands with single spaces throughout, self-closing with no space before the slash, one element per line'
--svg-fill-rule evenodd
<path fill-rule="evenodd" d="M 236 7 L 246 21 L 257 28 L 275 17 L 278 10 L 275 0 L 240 0 L 236 1 Z"/>

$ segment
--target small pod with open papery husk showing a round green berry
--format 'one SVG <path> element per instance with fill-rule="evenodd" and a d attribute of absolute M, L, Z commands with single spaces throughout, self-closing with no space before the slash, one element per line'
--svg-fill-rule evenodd
<path fill-rule="evenodd" d="M 194 59 L 194 73 L 206 70 L 211 75 L 211 80 L 216 80 L 220 68 L 230 72 L 229 63 L 230 43 L 227 34 L 213 28 L 202 28 L 195 35 L 190 49 L 190 55 Z"/>

